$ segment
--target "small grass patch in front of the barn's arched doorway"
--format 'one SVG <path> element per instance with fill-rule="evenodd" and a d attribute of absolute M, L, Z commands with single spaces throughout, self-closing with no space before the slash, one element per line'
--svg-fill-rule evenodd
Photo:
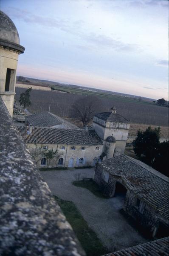
<path fill-rule="evenodd" d="M 73 181 L 73 185 L 88 189 L 90 190 L 90 192 L 92 192 L 99 198 L 107 198 L 106 196 L 103 195 L 99 185 L 93 179 L 76 180 Z"/>

